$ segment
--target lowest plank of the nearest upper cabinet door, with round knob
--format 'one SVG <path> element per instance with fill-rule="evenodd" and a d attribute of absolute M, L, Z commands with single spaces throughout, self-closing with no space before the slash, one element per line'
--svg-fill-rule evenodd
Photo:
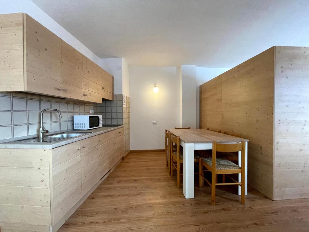
<path fill-rule="evenodd" d="M 62 83 L 44 76 L 27 72 L 26 91 L 62 97 Z"/>

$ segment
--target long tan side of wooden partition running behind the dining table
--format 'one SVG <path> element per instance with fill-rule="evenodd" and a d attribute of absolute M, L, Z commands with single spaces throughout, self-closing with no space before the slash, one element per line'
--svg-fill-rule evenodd
<path fill-rule="evenodd" d="M 274 47 L 200 87 L 201 128 L 221 129 L 250 140 L 248 183 L 270 199 L 273 199 L 273 67 Z"/>

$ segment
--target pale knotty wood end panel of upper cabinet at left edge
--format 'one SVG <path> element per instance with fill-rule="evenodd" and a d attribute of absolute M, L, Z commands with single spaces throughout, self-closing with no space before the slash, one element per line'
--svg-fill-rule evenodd
<path fill-rule="evenodd" d="M 0 91 L 23 91 L 23 14 L 0 15 Z"/>

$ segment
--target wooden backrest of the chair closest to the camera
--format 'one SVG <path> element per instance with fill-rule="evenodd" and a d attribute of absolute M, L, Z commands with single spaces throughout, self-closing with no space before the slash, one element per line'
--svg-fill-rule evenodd
<path fill-rule="evenodd" d="M 223 143 L 216 143 L 213 142 L 212 147 L 212 168 L 213 171 L 216 169 L 216 152 L 239 152 L 241 154 L 245 154 L 245 141 L 241 141 L 241 143 L 234 143 L 234 144 L 223 144 Z M 241 156 L 241 167 L 245 166 L 245 156 Z"/>

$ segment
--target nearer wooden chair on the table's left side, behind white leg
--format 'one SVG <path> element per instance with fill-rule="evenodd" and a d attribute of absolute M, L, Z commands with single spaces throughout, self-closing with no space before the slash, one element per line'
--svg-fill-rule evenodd
<path fill-rule="evenodd" d="M 176 145 L 176 151 L 171 152 L 171 176 L 174 176 L 174 167 L 177 170 L 177 188 L 180 188 L 180 164 L 184 162 L 183 152 L 180 151 L 180 137 L 170 133 L 170 148 Z M 194 162 L 199 162 L 199 156 L 194 155 Z"/>

